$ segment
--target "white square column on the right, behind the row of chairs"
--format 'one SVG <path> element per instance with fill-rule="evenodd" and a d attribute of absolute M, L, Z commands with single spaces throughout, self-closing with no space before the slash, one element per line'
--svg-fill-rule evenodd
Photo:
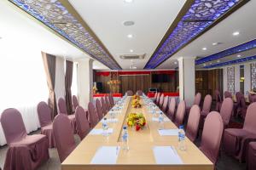
<path fill-rule="evenodd" d="M 180 57 L 178 60 L 179 98 L 192 105 L 195 98 L 195 57 Z"/>

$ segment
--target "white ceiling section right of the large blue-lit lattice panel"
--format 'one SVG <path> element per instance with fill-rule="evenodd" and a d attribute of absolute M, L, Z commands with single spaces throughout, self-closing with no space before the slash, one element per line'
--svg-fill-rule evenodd
<path fill-rule="evenodd" d="M 201 37 L 191 42 L 187 47 L 180 50 L 177 54 L 174 54 L 170 59 L 167 59 L 162 65 L 158 66 L 158 69 L 170 68 L 173 63 L 173 59 L 178 57 L 206 57 L 210 54 L 215 54 L 224 49 L 234 47 L 243 42 L 248 42 L 256 38 L 256 1 L 251 0 L 238 10 L 231 14 L 228 18 L 218 23 L 211 30 L 207 31 Z M 232 33 L 234 31 L 240 31 L 240 35 L 234 37 Z M 212 42 L 223 42 L 220 45 L 212 46 Z M 202 48 L 207 48 L 206 51 Z M 255 55 L 255 51 L 247 52 L 248 56 Z M 236 55 L 230 56 L 228 59 L 234 59 Z M 224 59 L 226 60 L 226 59 Z M 213 60 L 216 63 L 217 60 Z M 222 59 L 220 59 L 222 62 Z M 173 65 L 173 64 L 172 64 Z M 197 66 L 200 68 L 200 66 Z"/>

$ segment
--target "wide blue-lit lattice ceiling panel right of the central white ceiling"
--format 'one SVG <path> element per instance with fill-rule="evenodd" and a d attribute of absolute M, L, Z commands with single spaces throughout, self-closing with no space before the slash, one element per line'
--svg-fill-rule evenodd
<path fill-rule="evenodd" d="M 241 0 L 195 0 L 144 68 L 154 69 L 160 65 L 238 3 L 241 3 Z"/>

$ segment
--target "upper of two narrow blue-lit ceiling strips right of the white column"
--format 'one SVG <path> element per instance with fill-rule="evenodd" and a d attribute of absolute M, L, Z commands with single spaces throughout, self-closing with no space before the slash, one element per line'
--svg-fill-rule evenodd
<path fill-rule="evenodd" d="M 204 57 L 202 59 L 197 59 L 197 60 L 195 60 L 195 65 L 200 65 L 202 63 L 206 63 L 206 62 L 212 61 L 214 59 L 224 58 L 226 56 L 241 53 L 243 51 L 247 51 L 247 50 L 253 49 L 253 48 L 256 48 L 256 39 L 254 39 L 250 42 L 245 42 L 245 43 L 243 43 L 241 45 L 238 45 L 234 48 L 226 49 L 226 50 L 224 50 L 222 52 L 219 52 L 217 54 L 212 54 L 212 55 L 209 55 L 209 56 Z"/>

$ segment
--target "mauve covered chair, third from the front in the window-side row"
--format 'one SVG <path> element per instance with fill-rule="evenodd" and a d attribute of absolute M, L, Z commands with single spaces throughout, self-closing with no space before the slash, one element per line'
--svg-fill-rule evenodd
<path fill-rule="evenodd" d="M 60 98 L 58 100 L 58 108 L 59 108 L 59 114 L 67 115 L 67 106 L 66 101 L 63 98 Z M 76 117 L 75 115 L 67 115 L 69 121 L 71 122 L 71 127 L 73 128 L 73 133 L 76 133 L 77 131 L 77 125 L 76 125 Z"/>

